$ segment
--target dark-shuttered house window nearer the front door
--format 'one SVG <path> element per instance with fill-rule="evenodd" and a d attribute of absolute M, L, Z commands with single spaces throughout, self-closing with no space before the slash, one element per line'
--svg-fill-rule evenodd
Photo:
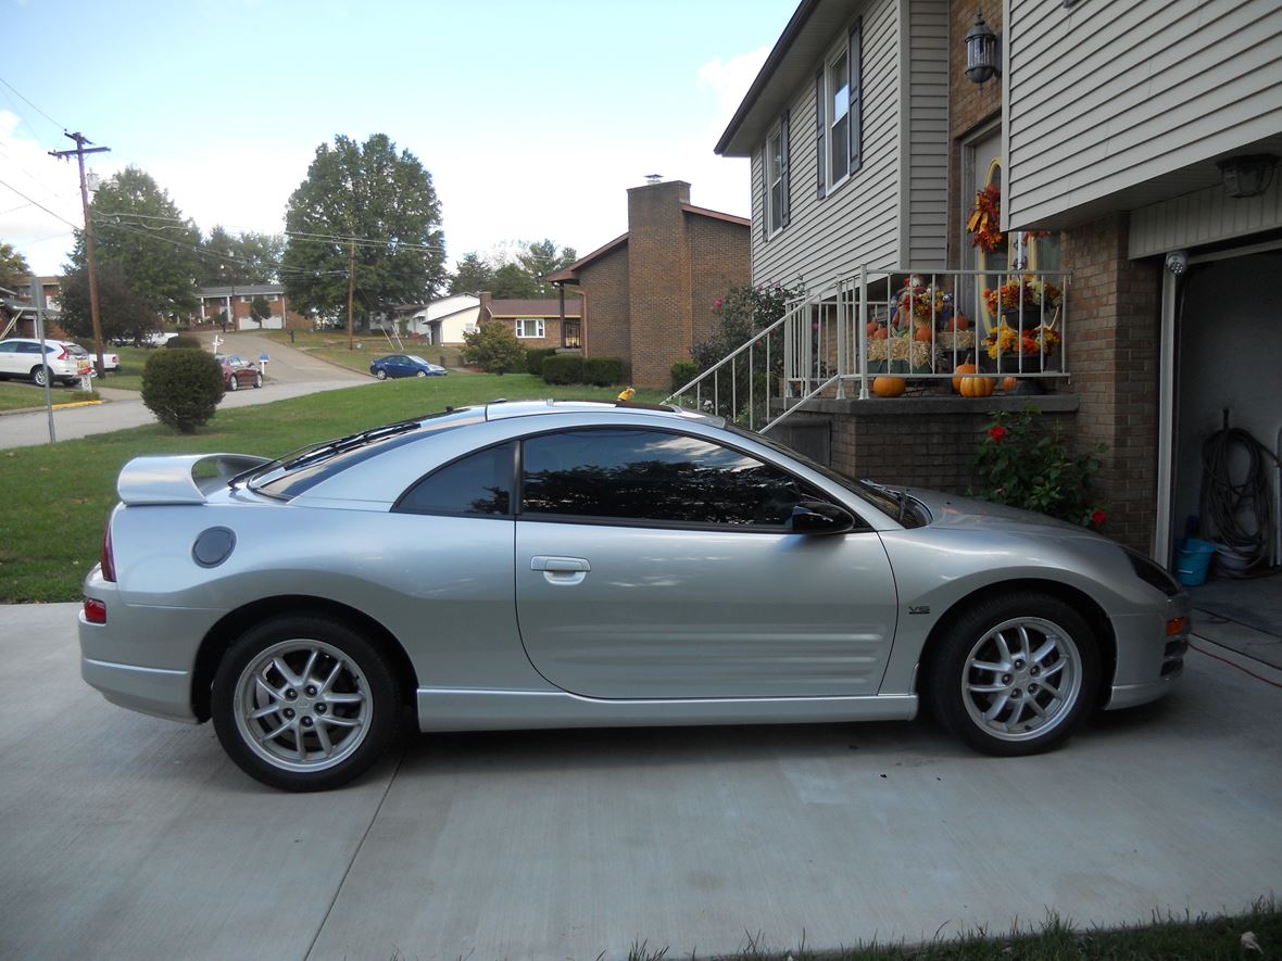
<path fill-rule="evenodd" d="M 824 196 L 863 160 L 863 22 L 815 77 L 818 192 Z"/>

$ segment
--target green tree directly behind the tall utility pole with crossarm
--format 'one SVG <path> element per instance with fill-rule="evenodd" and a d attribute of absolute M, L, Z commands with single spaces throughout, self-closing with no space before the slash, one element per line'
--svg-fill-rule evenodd
<path fill-rule="evenodd" d="M 200 231 L 151 177 L 136 167 L 112 177 L 94 195 L 90 223 L 99 270 L 118 264 L 129 288 L 159 314 L 196 309 Z M 85 237 L 77 231 L 67 273 L 83 268 Z"/>

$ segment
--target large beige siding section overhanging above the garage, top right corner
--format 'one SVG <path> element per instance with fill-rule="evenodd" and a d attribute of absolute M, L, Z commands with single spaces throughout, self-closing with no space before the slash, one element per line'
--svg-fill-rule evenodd
<path fill-rule="evenodd" d="M 1006 228 L 1282 129 L 1277 0 L 1006 0 L 1005 23 Z"/>

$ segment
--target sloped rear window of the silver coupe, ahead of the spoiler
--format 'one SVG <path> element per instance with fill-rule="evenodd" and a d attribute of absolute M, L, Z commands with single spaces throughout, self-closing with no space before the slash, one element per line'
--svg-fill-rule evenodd
<path fill-rule="evenodd" d="M 383 424 L 335 441 L 303 447 L 269 464 L 238 474 L 228 483 L 232 487 L 237 483 L 245 483 L 256 493 L 290 500 L 351 465 L 418 439 L 426 432 L 453 431 L 483 420 L 485 407 L 459 407 L 456 410 L 446 409 L 413 420 Z"/>

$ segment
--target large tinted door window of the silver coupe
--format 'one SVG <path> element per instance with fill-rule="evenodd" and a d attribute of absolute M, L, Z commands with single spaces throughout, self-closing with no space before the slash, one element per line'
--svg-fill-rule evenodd
<path fill-rule="evenodd" d="M 660 431 L 568 431 L 522 454 L 522 514 L 778 527 L 813 497 L 740 451 Z"/>

